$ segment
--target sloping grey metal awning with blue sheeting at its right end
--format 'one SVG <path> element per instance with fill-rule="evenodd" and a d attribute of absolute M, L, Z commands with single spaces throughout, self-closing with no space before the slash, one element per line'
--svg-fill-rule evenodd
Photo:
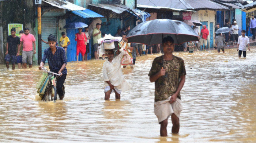
<path fill-rule="evenodd" d="M 94 7 L 108 9 L 114 13 L 121 14 L 123 12 L 129 12 L 132 15 L 138 17 L 142 21 L 146 21 L 146 18 L 150 16 L 149 13 L 143 12 L 139 9 L 131 9 L 122 4 L 89 4 Z"/>

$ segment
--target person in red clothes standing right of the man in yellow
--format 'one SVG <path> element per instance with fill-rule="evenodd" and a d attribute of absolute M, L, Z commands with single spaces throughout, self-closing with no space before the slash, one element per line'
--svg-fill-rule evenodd
<path fill-rule="evenodd" d="M 86 53 L 86 45 L 87 45 L 87 39 L 84 32 L 82 32 L 82 28 L 78 28 L 78 33 L 75 35 L 76 43 L 76 61 L 78 61 L 78 55 L 79 53 L 82 54 L 82 61 L 84 61 L 84 54 Z"/>

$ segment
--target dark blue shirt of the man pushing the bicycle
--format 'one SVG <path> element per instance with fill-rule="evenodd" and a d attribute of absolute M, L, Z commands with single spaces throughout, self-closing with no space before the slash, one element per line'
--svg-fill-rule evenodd
<path fill-rule="evenodd" d="M 54 53 L 54 55 L 52 54 L 50 47 L 45 49 L 44 56 L 42 57 L 41 62 L 45 63 L 46 58 L 48 60 L 48 65 L 49 65 L 50 71 L 52 71 L 54 73 L 59 72 L 63 63 L 67 64 L 65 50 L 64 50 L 64 48 L 59 47 L 59 46 L 56 46 L 56 52 Z M 66 67 L 62 71 L 62 74 L 67 74 Z"/>

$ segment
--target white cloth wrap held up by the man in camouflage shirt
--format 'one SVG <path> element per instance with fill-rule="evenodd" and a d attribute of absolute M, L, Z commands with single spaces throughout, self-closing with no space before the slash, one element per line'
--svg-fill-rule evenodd
<path fill-rule="evenodd" d="M 158 123 L 162 122 L 165 119 L 168 119 L 172 113 L 174 113 L 178 118 L 180 118 L 180 112 L 183 107 L 181 105 L 181 100 L 176 99 L 176 101 L 172 104 L 169 103 L 170 96 L 168 99 L 163 101 L 158 101 L 154 104 L 154 113 L 157 116 Z"/>

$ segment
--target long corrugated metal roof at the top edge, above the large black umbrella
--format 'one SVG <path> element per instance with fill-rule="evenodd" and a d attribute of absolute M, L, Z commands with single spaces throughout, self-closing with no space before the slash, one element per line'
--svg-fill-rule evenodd
<path fill-rule="evenodd" d="M 138 0 L 137 4 L 177 9 L 229 9 L 210 0 Z"/>

